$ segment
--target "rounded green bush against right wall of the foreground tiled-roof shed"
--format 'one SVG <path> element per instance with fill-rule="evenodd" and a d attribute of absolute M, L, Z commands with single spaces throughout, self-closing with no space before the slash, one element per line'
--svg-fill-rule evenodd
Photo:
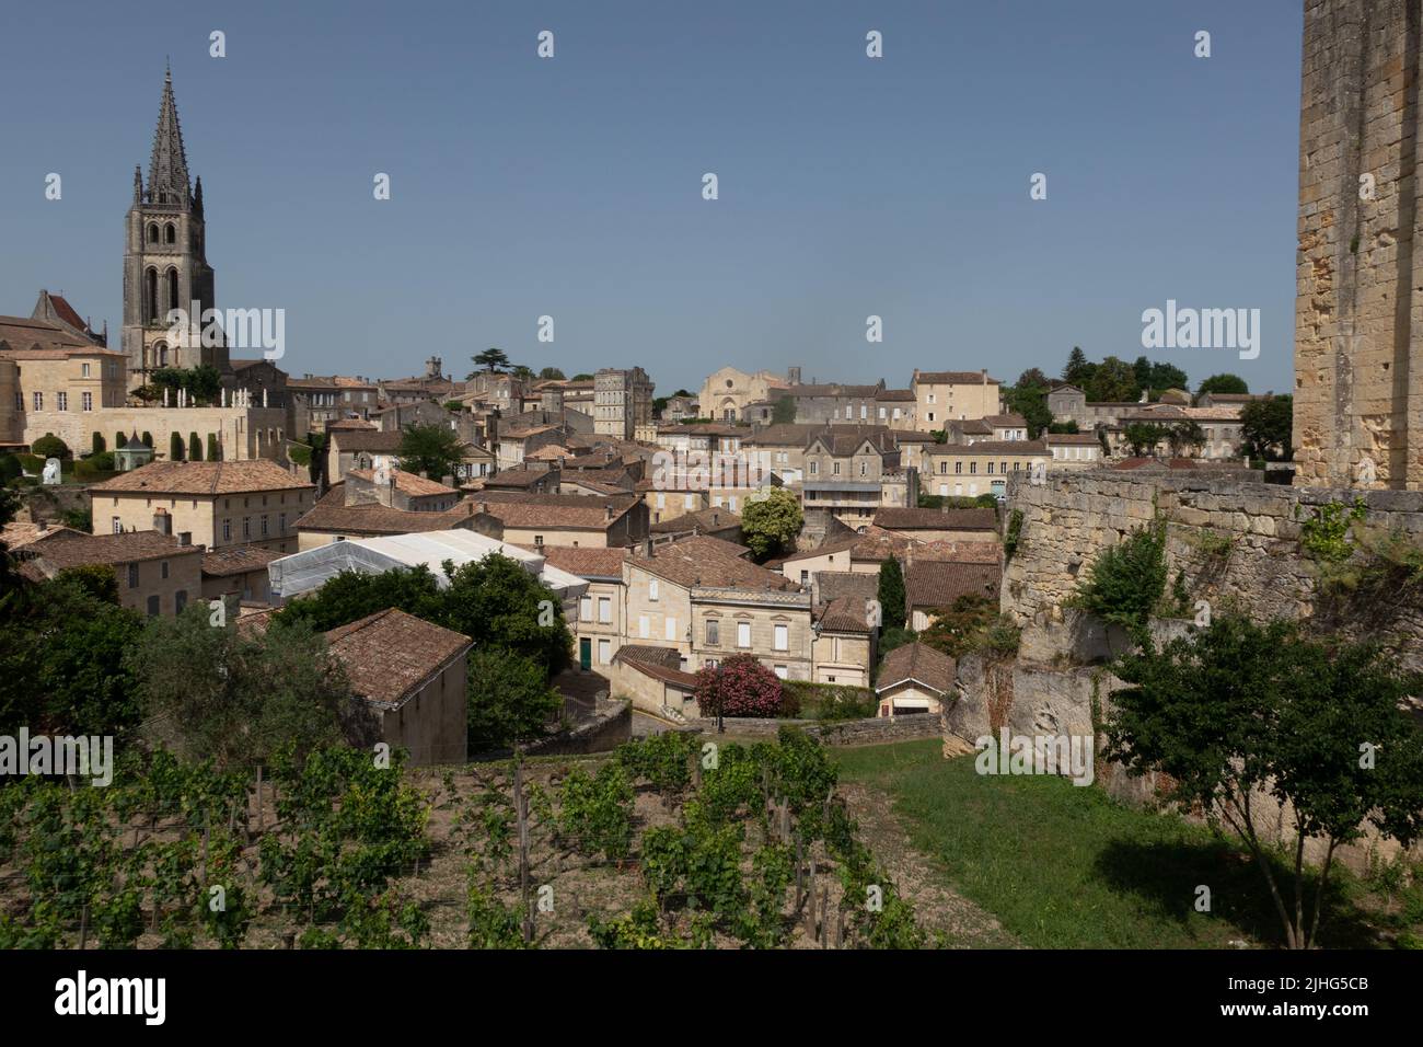
<path fill-rule="evenodd" d="M 542 736 L 564 708 L 542 662 L 511 648 L 470 652 L 470 752 Z"/>

